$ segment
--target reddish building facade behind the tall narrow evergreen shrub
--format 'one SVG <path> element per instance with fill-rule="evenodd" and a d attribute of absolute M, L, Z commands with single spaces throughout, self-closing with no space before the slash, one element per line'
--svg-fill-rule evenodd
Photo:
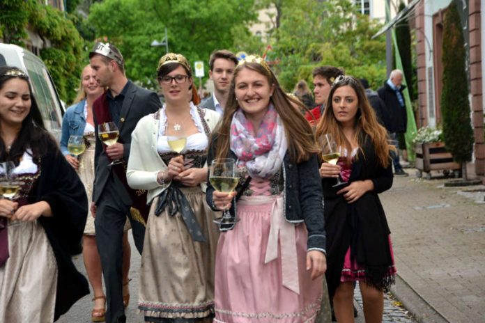
<path fill-rule="evenodd" d="M 456 0 L 421 0 L 415 8 L 415 31 L 417 39 L 417 79 L 418 113 L 417 125 L 423 127 L 440 125 L 442 91 L 442 31 L 444 13 L 451 1 Z M 485 175 L 484 142 L 484 90 L 482 75 L 482 40 L 485 35 L 485 0 L 456 1 L 461 13 L 463 36 L 467 49 L 466 68 L 469 76 L 470 117 L 475 139 L 472 163 L 475 175 Z"/>

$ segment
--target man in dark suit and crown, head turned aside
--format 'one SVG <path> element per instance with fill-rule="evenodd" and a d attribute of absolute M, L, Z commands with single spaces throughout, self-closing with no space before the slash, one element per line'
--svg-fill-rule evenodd
<path fill-rule="evenodd" d="M 127 79 L 123 56 L 113 45 L 98 42 L 93 52 L 89 53 L 89 63 L 100 86 L 108 88 L 93 103 L 96 148 L 91 203 L 105 278 L 106 322 L 126 322 L 121 274 L 122 236 L 126 216 L 130 214 L 134 200 L 126 185 L 126 175 L 121 165 L 109 166 L 109 163 L 117 159 L 123 160 L 123 163 L 128 161 L 134 127 L 140 118 L 160 109 L 160 100 L 156 93 L 140 88 Z M 107 121 L 113 121 L 119 129 L 118 142 L 109 146 L 103 145 L 98 136 L 98 125 Z M 143 237 L 139 235 L 144 235 L 144 226 L 131 216 L 130 222 L 137 249 L 141 253 Z"/>

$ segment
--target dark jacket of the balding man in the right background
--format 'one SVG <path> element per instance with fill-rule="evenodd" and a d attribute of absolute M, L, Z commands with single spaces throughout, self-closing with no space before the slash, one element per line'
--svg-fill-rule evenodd
<path fill-rule="evenodd" d="M 399 88 L 399 92 L 404 98 L 403 90 L 406 86 L 402 85 Z M 389 121 L 387 123 L 388 132 L 396 132 L 398 134 L 403 134 L 406 132 L 408 127 L 408 116 L 406 114 L 406 106 L 401 107 L 399 100 L 397 99 L 396 92 L 384 82 L 384 86 L 377 90 L 379 97 L 384 101 L 385 107 L 387 108 L 387 115 L 389 116 Z"/>

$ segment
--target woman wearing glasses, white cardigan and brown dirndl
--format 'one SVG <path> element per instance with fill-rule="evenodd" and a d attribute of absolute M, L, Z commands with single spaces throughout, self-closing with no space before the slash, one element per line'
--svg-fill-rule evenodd
<path fill-rule="evenodd" d="M 151 203 L 139 309 L 146 322 L 210 322 L 218 233 L 203 191 L 219 113 L 187 100 L 193 81 L 184 56 L 162 56 L 157 74 L 165 104 L 134 129 L 127 171 L 128 184 L 147 189 Z"/>

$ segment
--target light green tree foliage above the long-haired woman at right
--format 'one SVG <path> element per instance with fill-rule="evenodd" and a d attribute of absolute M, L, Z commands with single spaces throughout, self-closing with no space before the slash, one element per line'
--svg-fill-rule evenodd
<path fill-rule="evenodd" d="M 276 1 L 279 2 L 279 1 Z M 275 3 L 277 4 L 277 3 Z M 311 81 L 311 70 L 321 65 L 344 68 L 347 74 L 365 77 L 375 88 L 385 79 L 385 38 L 371 40 L 380 24 L 355 13 L 348 0 L 288 0 L 280 9 L 275 30 L 275 70 L 286 89 L 298 79 Z"/>

